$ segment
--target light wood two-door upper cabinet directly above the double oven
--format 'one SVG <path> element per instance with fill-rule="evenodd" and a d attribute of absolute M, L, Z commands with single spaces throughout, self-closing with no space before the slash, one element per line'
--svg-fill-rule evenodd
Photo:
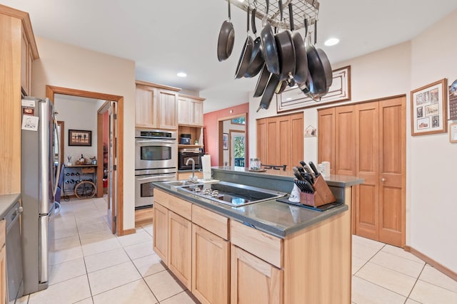
<path fill-rule="evenodd" d="M 178 129 L 179 88 L 136 80 L 135 127 Z"/>

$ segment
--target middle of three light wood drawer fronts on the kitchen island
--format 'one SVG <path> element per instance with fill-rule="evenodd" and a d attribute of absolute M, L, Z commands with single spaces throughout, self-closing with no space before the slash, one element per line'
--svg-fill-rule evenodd
<path fill-rule="evenodd" d="M 229 219 L 225 216 L 192 205 L 192 221 L 222 239 L 229 239 Z"/>

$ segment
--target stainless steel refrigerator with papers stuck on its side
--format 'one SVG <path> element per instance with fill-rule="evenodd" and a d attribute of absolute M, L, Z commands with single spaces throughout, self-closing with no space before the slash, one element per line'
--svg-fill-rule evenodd
<path fill-rule="evenodd" d="M 21 200 L 24 294 L 48 287 L 54 241 L 54 194 L 59 181 L 56 112 L 48 98 L 22 99 Z"/>

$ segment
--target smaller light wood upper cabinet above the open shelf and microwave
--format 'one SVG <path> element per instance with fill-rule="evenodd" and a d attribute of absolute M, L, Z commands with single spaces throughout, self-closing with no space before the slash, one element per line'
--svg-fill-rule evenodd
<path fill-rule="evenodd" d="M 204 98 L 182 95 L 178 97 L 178 124 L 203 126 Z"/>

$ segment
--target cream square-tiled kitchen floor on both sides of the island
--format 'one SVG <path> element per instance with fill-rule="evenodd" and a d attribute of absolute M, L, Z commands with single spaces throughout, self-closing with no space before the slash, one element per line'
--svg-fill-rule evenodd
<path fill-rule="evenodd" d="M 117 237 L 104 199 L 63 201 L 50 252 L 49 288 L 19 303 L 196 303 L 152 250 L 152 225 Z M 457 303 L 457 282 L 401 248 L 353 236 L 352 300 Z"/>

